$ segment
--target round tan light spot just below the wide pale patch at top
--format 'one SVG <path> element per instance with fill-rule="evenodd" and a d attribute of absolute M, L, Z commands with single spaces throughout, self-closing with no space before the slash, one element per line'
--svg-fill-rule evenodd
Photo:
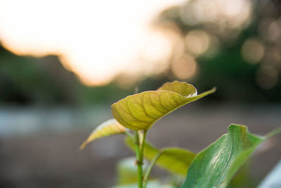
<path fill-rule="evenodd" d="M 195 56 L 204 54 L 209 49 L 210 37 L 203 30 L 192 30 L 185 36 L 185 46 Z"/>

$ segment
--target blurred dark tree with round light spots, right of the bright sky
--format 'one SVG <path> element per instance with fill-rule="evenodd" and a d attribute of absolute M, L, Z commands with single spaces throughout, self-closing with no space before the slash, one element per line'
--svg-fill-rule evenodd
<path fill-rule="evenodd" d="M 183 46 L 183 54 L 171 58 L 169 77 L 192 82 L 200 90 L 215 85 L 216 99 L 280 102 L 280 5 L 280 1 L 193 0 L 164 10 L 155 22 L 181 38 L 175 53 Z M 185 66 L 177 63 L 183 56 L 195 58 L 194 77 L 181 78 L 183 70 L 185 74 L 191 70 L 188 61 Z"/>

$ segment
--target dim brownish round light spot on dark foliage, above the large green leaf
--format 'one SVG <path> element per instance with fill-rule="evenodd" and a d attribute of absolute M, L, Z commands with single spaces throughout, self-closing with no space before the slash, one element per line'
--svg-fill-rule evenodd
<path fill-rule="evenodd" d="M 241 53 L 248 63 L 259 63 L 264 55 L 263 44 L 257 39 L 247 39 L 242 45 Z"/>

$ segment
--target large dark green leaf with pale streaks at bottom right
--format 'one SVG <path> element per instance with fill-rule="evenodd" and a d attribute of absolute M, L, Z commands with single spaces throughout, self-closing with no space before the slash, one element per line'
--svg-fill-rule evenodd
<path fill-rule="evenodd" d="M 230 125 L 228 134 L 200 152 L 190 165 L 185 183 L 189 187 L 226 187 L 251 153 L 265 140 L 244 125 Z"/>

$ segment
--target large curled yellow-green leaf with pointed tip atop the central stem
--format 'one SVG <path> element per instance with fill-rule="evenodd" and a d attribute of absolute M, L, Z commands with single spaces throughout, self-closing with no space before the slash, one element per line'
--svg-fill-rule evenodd
<path fill-rule="evenodd" d="M 168 82 L 157 91 L 133 94 L 117 101 L 112 104 L 112 114 L 119 123 L 131 130 L 148 130 L 164 115 L 215 91 L 214 88 L 197 95 L 197 90 L 191 84 Z"/>

